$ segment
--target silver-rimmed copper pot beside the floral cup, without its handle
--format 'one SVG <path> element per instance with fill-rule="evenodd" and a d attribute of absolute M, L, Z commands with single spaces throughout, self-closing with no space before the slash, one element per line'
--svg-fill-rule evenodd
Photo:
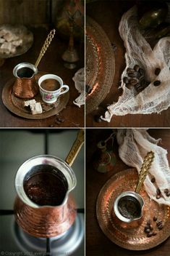
<path fill-rule="evenodd" d="M 20 63 L 14 67 L 13 74 L 16 81 L 13 86 L 15 96 L 30 99 L 38 93 L 38 84 L 35 81 L 35 74 L 38 69 L 31 63 Z"/>

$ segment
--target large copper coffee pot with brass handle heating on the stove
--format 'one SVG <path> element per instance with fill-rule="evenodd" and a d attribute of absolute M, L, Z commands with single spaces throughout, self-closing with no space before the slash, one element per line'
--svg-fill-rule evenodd
<path fill-rule="evenodd" d="M 71 165 L 83 143 L 84 130 L 81 129 L 66 161 L 55 156 L 41 155 L 28 159 L 18 169 L 15 177 L 17 198 L 14 202 L 14 213 L 17 224 L 20 225 L 25 232 L 32 236 L 44 238 L 61 236 L 74 223 L 77 210 L 75 200 L 70 192 L 75 188 L 77 181 Z M 46 175 L 46 167 L 49 167 L 54 177 L 58 177 L 62 184 L 64 184 L 65 193 L 62 193 L 62 198 L 57 185 L 50 188 L 50 191 L 56 193 L 56 198 L 60 197 L 61 199 L 59 204 L 56 205 L 48 204 L 48 194 L 43 195 L 41 198 L 45 201 L 45 205 L 37 204 L 32 199 L 33 196 L 38 195 L 36 191 L 38 175 L 40 173 L 41 175 L 42 173 Z M 29 179 L 31 180 L 32 177 L 36 178 L 31 184 Z M 46 182 L 46 180 L 43 180 L 43 184 Z M 41 185 L 41 183 L 39 184 Z M 41 188 L 42 187 L 39 187 L 38 189 L 41 190 Z M 27 191 L 30 191 L 30 194 L 28 194 Z M 33 195 L 31 191 L 34 191 L 35 194 Z M 34 197 L 34 199 L 36 199 L 36 197 Z M 40 200 L 40 198 L 37 198 L 37 200 Z M 53 202 L 55 202 L 55 198 Z"/>

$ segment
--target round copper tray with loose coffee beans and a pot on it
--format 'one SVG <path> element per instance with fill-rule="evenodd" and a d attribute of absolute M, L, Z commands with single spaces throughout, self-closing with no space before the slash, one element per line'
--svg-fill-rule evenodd
<path fill-rule="evenodd" d="M 116 196 L 123 191 L 135 191 L 138 174 L 135 169 L 127 169 L 112 176 L 103 185 L 98 195 L 96 213 L 98 223 L 105 235 L 120 247 L 131 250 L 143 250 L 156 247 L 170 236 L 170 207 L 157 204 L 151 200 L 144 188 L 140 195 L 143 196 L 145 206 L 143 217 L 132 223 L 123 223 L 114 214 L 113 204 Z M 158 231 L 153 216 L 163 221 L 163 229 Z M 152 221 L 156 236 L 147 237 L 144 228 L 148 220 Z"/>

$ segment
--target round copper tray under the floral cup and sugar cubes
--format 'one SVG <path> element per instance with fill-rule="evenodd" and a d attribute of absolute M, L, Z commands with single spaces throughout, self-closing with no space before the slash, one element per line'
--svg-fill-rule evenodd
<path fill-rule="evenodd" d="M 38 81 L 38 79 L 43 74 L 44 73 L 38 73 L 37 75 L 35 75 L 35 79 Z M 15 79 L 11 79 L 7 82 L 7 84 L 5 84 L 4 89 L 2 91 L 2 101 L 4 105 L 9 109 L 9 111 L 15 113 L 17 116 L 22 116 L 25 119 L 46 119 L 50 116 L 54 116 L 57 113 L 59 113 L 63 108 L 65 108 L 69 101 L 69 92 L 66 92 L 63 95 L 59 96 L 56 103 L 46 104 L 43 102 L 40 92 L 38 92 L 38 95 L 35 95 L 34 99 L 37 102 L 41 103 L 43 113 L 32 115 L 30 108 L 25 108 L 24 106 L 25 100 L 20 99 L 19 97 L 15 97 L 12 93 L 14 81 Z"/>

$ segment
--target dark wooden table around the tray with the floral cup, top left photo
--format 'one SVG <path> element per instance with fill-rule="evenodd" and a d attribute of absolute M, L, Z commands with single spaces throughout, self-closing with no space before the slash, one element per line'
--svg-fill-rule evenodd
<path fill-rule="evenodd" d="M 12 79 L 12 70 L 15 65 L 22 62 L 35 63 L 49 32 L 46 26 L 30 28 L 30 30 L 33 31 L 34 34 L 33 46 L 25 54 L 5 60 L 4 65 L 0 68 L 0 95 L 4 85 L 9 79 Z M 0 127 L 84 127 L 84 106 L 82 105 L 81 108 L 79 108 L 73 103 L 76 97 L 79 96 L 79 93 L 77 89 L 75 89 L 74 81 L 72 81 L 75 72 L 79 68 L 84 67 L 84 44 L 83 42 L 79 42 L 76 45 L 80 55 L 80 61 L 77 63 L 77 68 L 74 70 L 64 68 L 64 61 L 61 59 L 61 55 L 64 50 L 67 49 L 67 46 L 68 41 L 60 39 L 56 33 L 41 63 L 38 65 L 38 71 L 54 73 L 61 76 L 64 83 L 69 85 L 69 102 L 66 108 L 59 113 L 59 117 L 64 119 L 64 122 L 57 124 L 56 116 L 41 120 L 24 119 L 20 116 L 16 116 L 14 113 L 7 110 L 0 97 Z"/>

